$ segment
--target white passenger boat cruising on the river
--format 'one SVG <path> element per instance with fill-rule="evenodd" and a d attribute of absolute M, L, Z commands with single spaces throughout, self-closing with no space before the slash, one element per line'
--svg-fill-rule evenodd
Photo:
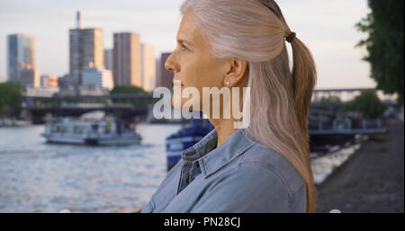
<path fill-rule="evenodd" d="M 140 143 L 141 137 L 133 124 L 122 125 L 119 120 L 91 118 L 88 115 L 80 119 L 49 120 L 41 135 L 49 143 L 100 146 Z"/>

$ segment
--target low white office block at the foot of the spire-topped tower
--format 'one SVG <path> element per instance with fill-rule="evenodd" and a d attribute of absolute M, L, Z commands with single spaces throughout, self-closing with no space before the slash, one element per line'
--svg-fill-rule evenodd
<path fill-rule="evenodd" d="M 95 85 L 108 90 L 114 87 L 112 81 L 112 72 L 103 67 L 85 67 L 82 73 L 83 85 Z"/>

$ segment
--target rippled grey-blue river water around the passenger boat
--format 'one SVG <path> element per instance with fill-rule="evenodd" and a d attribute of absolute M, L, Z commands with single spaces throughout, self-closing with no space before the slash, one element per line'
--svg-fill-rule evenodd
<path fill-rule="evenodd" d="M 140 145 L 48 144 L 43 126 L 0 129 L 0 212 L 132 212 L 166 175 L 165 138 L 181 125 L 139 124 Z M 323 182 L 359 144 L 312 159 Z"/>

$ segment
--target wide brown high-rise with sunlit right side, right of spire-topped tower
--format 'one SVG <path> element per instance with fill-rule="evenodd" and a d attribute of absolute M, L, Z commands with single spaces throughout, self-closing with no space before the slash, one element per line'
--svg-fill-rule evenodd
<path fill-rule="evenodd" d="M 132 32 L 114 33 L 112 76 L 115 85 L 142 87 L 140 39 Z"/>

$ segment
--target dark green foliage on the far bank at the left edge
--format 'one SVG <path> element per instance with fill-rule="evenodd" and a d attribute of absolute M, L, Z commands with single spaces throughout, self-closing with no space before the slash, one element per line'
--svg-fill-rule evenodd
<path fill-rule="evenodd" d="M 0 115 L 19 117 L 22 111 L 24 87 L 22 84 L 0 83 Z"/>

